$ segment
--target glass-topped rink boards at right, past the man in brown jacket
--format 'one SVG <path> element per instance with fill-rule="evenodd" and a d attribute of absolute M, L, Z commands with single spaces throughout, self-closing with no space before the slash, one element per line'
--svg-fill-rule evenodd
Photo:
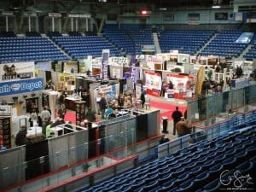
<path fill-rule="evenodd" d="M 237 114 L 256 108 L 256 84 L 218 94 L 200 96 L 188 102 L 188 119 L 198 128 L 207 128 Z"/>

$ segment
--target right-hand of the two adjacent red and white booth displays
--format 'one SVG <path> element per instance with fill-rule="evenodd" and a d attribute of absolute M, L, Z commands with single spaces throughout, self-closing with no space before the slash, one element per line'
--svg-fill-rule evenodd
<path fill-rule="evenodd" d="M 167 98 L 183 99 L 192 97 L 194 77 L 183 74 L 167 74 L 167 83 L 172 81 L 173 90 L 166 90 Z"/>

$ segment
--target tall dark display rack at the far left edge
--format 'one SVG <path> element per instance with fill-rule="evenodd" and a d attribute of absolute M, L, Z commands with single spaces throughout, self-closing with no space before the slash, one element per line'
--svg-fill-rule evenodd
<path fill-rule="evenodd" d="M 11 117 L 0 117 L 0 145 L 11 148 Z"/>

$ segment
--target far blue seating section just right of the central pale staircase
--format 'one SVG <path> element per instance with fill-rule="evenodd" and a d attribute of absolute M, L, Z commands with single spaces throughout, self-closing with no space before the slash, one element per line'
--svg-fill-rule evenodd
<path fill-rule="evenodd" d="M 214 31 L 166 30 L 160 33 L 160 48 L 163 53 L 178 49 L 179 53 L 195 55 L 213 34 Z"/>

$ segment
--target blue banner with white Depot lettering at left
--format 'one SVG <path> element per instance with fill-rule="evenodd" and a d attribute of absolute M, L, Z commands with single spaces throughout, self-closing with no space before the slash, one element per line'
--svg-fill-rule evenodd
<path fill-rule="evenodd" d="M 0 83 L 0 96 L 43 90 L 43 79 L 26 79 Z"/>

